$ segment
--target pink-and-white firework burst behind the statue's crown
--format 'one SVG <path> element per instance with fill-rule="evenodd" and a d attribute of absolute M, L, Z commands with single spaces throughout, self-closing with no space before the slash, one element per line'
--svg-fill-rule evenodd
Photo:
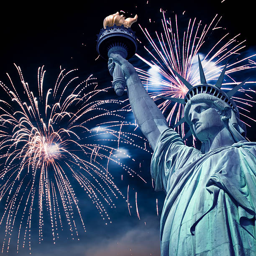
<path fill-rule="evenodd" d="M 210 25 L 205 26 L 202 25 L 201 20 L 197 21 L 196 18 L 194 20 L 190 19 L 186 31 L 181 34 L 178 30 L 177 15 L 175 16 L 175 21 L 172 22 L 170 18 L 165 17 L 164 11 L 161 12 L 163 14 L 163 18 L 161 19 L 162 31 L 160 33 L 155 31 L 156 39 L 154 38 L 155 36 L 151 36 L 147 28 L 142 28 L 141 25 L 139 25 L 151 49 L 144 46 L 144 49 L 147 51 L 145 56 L 149 54 L 151 60 L 148 61 L 138 54 L 136 54 L 136 56 L 148 64 L 152 72 L 146 72 L 139 68 L 136 68 L 136 70 L 145 89 L 149 92 L 153 100 L 161 102 L 157 103 L 161 111 L 163 113 L 165 113 L 166 110 L 169 111 L 166 119 L 169 125 L 171 125 L 171 121 L 173 125 L 183 117 L 183 105 L 178 103 L 173 104 L 169 100 L 159 100 L 159 96 L 184 98 L 188 89 L 174 74 L 172 69 L 184 77 L 190 84 L 199 84 L 200 75 L 197 64 L 197 54 L 201 51 L 205 51 L 207 55 L 203 56 L 200 54 L 200 57 L 207 82 L 218 79 L 220 72 L 225 66 L 225 62 L 228 60 L 225 77 L 228 77 L 230 82 L 223 83 L 223 85 L 228 85 L 227 88 L 224 88 L 228 90 L 242 82 L 234 79 L 233 76 L 236 75 L 237 72 L 246 69 L 254 69 L 256 67 L 256 63 L 251 60 L 256 54 L 242 57 L 240 52 L 245 48 L 243 45 L 245 41 L 237 41 L 239 34 L 233 38 L 229 38 L 228 33 L 219 38 L 218 36 L 212 36 L 212 31 L 221 28 L 218 26 L 221 17 L 218 18 L 217 15 L 213 18 Z M 206 49 L 204 48 L 207 44 L 211 47 L 210 50 L 207 49 L 207 47 Z M 246 93 L 254 92 L 248 88 L 248 84 L 250 83 L 255 82 L 246 82 L 246 90 L 241 89 L 240 91 Z M 252 97 L 249 95 L 246 94 L 246 96 L 248 96 L 246 99 L 233 97 L 233 100 L 238 102 L 238 108 L 242 110 L 241 115 L 244 116 L 246 120 L 253 120 L 248 117 L 247 113 L 249 110 L 247 110 L 246 107 L 251 107 L 251 103 L 255 101 L 252 100 Z M 246 125 L 248 124 L 246 123 Z M 184 124 L 181 125 L 181 135 L 182 137 L 185 135 Z"/>

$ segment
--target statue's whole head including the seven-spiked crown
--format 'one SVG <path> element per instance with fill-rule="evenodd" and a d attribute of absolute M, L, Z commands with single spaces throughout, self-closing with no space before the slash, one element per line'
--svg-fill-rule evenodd
<path fill-rule="evenodd" d="M 200 80 L 201 83 L 192 86 L 177 72 L 174 73 L 188 87 L 189 91 L 182 99 L 164 97 L 184 104 L 184 120 L 190 127 L 196 138 L 202 141 L 201 151 L 204 151 L 204 141 L 211 136 L 215 137 L 223 128 L 228 128 L 234 141 L 245 140 L 246 127 L 239 118 L 238 108 L 231 97 L 246 82 L 238 84 L 228 92 L 220 89 L 225 74 L 225 65 L 217 83 L 215 85 L 207 84 L 202 69 L 202 64 L 198 56 Z"/>

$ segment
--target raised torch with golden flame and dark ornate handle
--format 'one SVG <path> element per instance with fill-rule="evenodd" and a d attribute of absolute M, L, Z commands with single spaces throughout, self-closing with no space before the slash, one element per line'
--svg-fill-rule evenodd
<path fill-rule="evenodd" d="M 134 18 L 123 17 L 119 12 L 109 15 L 103 21 L 103 28 L 97 35 L 97 52 L 103 59 L 108 60 L 110 54 L 120 54 L 125 59 L 130 59 L 137 50 L 137 42 L 132 23 L 137 21 L 137 14 Z M 118 96 L 123 95 L 126 87 L 125 77 L 118 63 L 115 63 L 113 71 L 112 86 Z"/>

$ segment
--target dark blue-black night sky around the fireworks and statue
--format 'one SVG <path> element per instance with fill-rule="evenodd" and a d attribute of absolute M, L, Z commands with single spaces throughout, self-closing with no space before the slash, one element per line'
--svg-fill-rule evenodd
<path fill-rule="evenodd" d="M 46 83 L 56 81 L 60 72 L 60 66 L 67 70 L 77 68 L 76 74 L 81 79 L 86 79 L 90 74 L 97 77 L 99 87 L 108 87 L 112 77 L 107 68 L 107 62 L 98 58 L 96 51 L 97 34 L 103 26 L 103 20 L 107 15 L 116 11 L 123 10 L 126 17 L 133 17 L 138 14 L 138 22 L 132 28 L 136 31 L 136 36 L 142 42 L 138 44 L 137 53 L 150 59 L 143 45 L 148 46 L 138 23 L 154 32 L 161 27 L 162 10 L 166 10 L 166 17 L 174 19 L 174 15 L 180 21 L 180 30 L 186 28 L 189 18 L 197 17 L 202 23 L 212 20 L 215 14 L 223 16 L 220 25 L 230 32 L 232 36 L 241 33 L 241 40 L 246 39 L 246 48 L 243 51 L 245 56 L 255 54 L 255 14 L 253 13 L 252 1 L 242 1 L 234 4 L 233 1 L 221 0 L 214 1 L 157 1 L 140 0 L 124 1 L 91 1 L 90 3 L 78 3 L 70 1 L 68 3 L 46 3 L 34 2 L 31 4 L 5 3 L 1 4 L 0 15 L 0 81 L 8 84 L 6 72 L 10 74 L 18 86 L 19 78 L 13 63 L 20 66 L 26 81 L 33 90 L 37 86 L 37 69 L 45 65 Z M 127 3 L 128 2 L 128 3 Z M 162 2 L 162 3 L 161 3 Z M 182 14 L 185 11 L 184 15 Z M 149 22 L 151 19 L 151 23 Z M 215 36 L 215 35 L 212 35 Z M 203 48 L 207 54 L 207 47 Z M 131 63 L 138 68 L 148 70 L 143 62 L 134 56 Z M 248 76 L 251 81 L 255 81 L 253 72 L 240 72 L 241 81 Z M 240 79 L 240 78 L 239 78 Z M 239 80 L 238 79 L 238 80 Z M 33 85 L 35 84 L 35 85 Z M 34 86 L 34 87 L 33 87 Z M 255 90 L 255 84 L 251 86 Z M 253 96 L 253 95 L 252 95 Z M 102 95 L 104 97 L 104 95 Z M 114 92 L 110 92 L 108 98 L 118 99 Z M 121 97 L 125 100 L 127 95 Z M 254 108 L 254 107 L 253 107 Z M 253 108 L 249 114 L 255 118 Z M 253 116 L 254 115 L 254 116 Z M 132 115 L 127 115 L 127 119 L 133 122 Z M 254 127 L 252 120 L 246 120 Z M 136 134 L 141 135 L 138 129 Z M 253 128 L 248 128 L 247 137 L 251 141 L 256 141 Z M 136 162 L 126 161 L 143 179 L 146 184 L 139 179 L 130 179 L 128 175 L 120 172 L 117 165 L 111 165 L 111 172 L 115 176 L 115 184 L 127 195 L 127 187 L 130 186 L 129 202 L 132 208 L 131 216 L 128 211 L 127 202 L 123 199 L 116 201 L 115 209 L 108 209 L 112 223 L 105 225 L 96 208 L 82 190 L 77 188 L 79 207 L 82 212 L 84 224 L 87 232 L 84 233 L 82 225 L 77 226 L 79 231 L 79 241 L 77 238 L 72 240 L 68 226 L 64 223 L 63 230 L 59 230 L 59 239 L 53 244 L 49 223 L 44 224 L 44 241 L 38 243 L 38 224 L 31 225 L 31 253 L 36 256 L 61 255 L 61 256 L 114 256 L 114 255 L 133 255 L 148 256 L 159 255 L 159 225 L 161 208 L 164 203 L 164 192 L 154 192 L 150 176 L 151 154 L 142 153 L 129 148 L 129 154 L 136 158 Z M 2 161 L 0 159 L 0 161 Z M 121 160 L 122 161 L 122 160 Z M 138 163 L 141 163 L 139 168 Z M 123 181 L 121 174 L 124 175 Z M 126 177 L 126 178 L 125 178 Z M 74 188 L 76 189 L 76 188 Z M 138 194 L 138 210 L 140 220 L 137 217 L 135 205 L 135 192 Z M 156 210 L 156 199 L 158 200 L 158 211 Z M 0 216 L 3 213 L 4 202 L 0 203 Z M 77 217 L 77 216 L 76 216 Z M 64 219 L 65 222 L 65 219 Z M 79 221 L 77 222 L 79 223 Z M 13 236 L 17 236 L 18 224 L 14 225 Z M 0 227 L 0 245 L 3 241 L 4 229 Z M 10 243 L 8 255 L 15 255 L 16 240 Z M 2 246 L 0 246 L 2 248 Z M 6 250 L 3 251 L 6 255 Z M 19 249 L 19 255 L 29 255 L 28 246 Z"/>

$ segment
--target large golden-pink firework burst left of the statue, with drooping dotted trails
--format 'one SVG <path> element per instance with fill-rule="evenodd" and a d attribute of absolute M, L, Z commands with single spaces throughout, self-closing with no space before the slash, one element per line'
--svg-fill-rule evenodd
<path fill-rule="evenodd" d="M 92 75 L 74 87 L 78 77 L 69 77 L 76 69 L 63 69 L 54 88 L 45 93 L 45 70 L 41 67 L 34 94 L 20 67 L 15 67 L 21 89 L 14 86 L 9 75 L 10 88 L 0 82 L 7 95 L 0 100 L 0 202 L 5 205 L 0 216 L 4 228 L 2 252 L 8 252 L 10 238 L 15 239 L 15 223 L 17 252 L 25 244 L 31 250 L 31 227 L 35 225 L 40 243 L 47 216 L 54 243 L 59 229 L 64 228 L 64 220 L 72 239 L 78 238 L 77 221 L 84 231 L 85 225 L 74 184 L 84 190 L 106 225 L 111 223 L 106 208 L 114 208 L 115 200 L 125 197 L 115 185 L 108 165 L 113 162 L 132 177 L 140 177 L 121 162 L 118 154 L 135 160 L 122 153 L 120 146 L 149 153 L 144 148 L 146 140 L 129 132 L 128 128 L 133 131 L 135 125 L 125 121 L 127 110 L 120 110 L 123 102 L 99 100 L 111 88 L 97 89 L 97 79 Z M 142 145 L 134 140 L 141 140 Z"/>

